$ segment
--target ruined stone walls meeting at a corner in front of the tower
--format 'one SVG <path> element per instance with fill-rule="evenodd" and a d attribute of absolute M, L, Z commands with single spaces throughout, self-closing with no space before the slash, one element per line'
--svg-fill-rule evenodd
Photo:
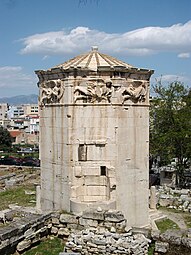
<path fill-rule="evenodd" d="M 9 217 L 8 217 L 9 216 Z M 0 254 L 19 254 L 47 236 L 66 241 L 65 251 L 80 254 L 147 254 L 150 240 L 144 234 L 126 227 L 126 219 L 119 211 L 86 211 L 81 216 L 70 214 L 25 214 L 24 218 L 0 228 Z"/>

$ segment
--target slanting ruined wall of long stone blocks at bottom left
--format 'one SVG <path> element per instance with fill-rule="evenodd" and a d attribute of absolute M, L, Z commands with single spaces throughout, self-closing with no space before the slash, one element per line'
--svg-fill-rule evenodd
<path fill-rule="evenodd" d="M 10 211 L 5 212 L 6 226 L 0 228 L 0 254 L 23 252 L 49 234 L 48 220 L 51 219 L 51 214 L 25 214 L 14 221 L 12 217 L 10 219 L 10 215 Z"/>

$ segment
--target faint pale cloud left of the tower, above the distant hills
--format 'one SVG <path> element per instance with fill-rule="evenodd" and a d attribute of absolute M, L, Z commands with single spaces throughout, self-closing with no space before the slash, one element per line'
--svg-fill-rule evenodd
<path fill-rule="evenodd" d="M 25 88 L 37 82 L 36 77 L 24 73 L 21 66 L 3 66 L 0 67 L 0 88 Z"/>

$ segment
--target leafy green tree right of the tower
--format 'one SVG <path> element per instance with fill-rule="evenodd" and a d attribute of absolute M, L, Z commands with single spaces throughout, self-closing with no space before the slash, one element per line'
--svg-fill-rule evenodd
<path fill-rule="evenodd" d="M 150 153 L 160 156 L 166 165 L 177 159 L 177 181 L 183 183 L 183 173 L 191 159 L 191 91 L 181 82 L 167 87 L 158 82 L 156 97 L 150 108 Z"/>

